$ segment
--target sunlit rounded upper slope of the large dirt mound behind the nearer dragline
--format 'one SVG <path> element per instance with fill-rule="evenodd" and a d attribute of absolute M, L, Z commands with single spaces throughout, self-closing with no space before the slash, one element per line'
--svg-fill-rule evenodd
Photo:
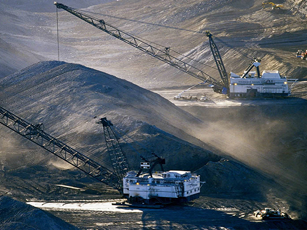
<path fill-rule="evenodd" d="M 80 129 L 97 130 L 94 121 L 87 123 L 95 116 L 106 116 L 123 133 L 127 126 L 136 128 L 146 122 L 185 140 L 199 142 L 188 137 L 185 130 L 191 129 L 187 121 L 197 125 L 200 120 L 151 91 L 85 66 L 40 62 L 3 78 L 1 88 L 3 105 L 18 108 L 22 104 L 23 108 L 16 112 L 26 112 L 26 117 L 36 122 L 44 118 L 46 127 L 54 127 L 60 135 L 77 131 L 71 129 L 72 121 Z M 54 124 L 54 118 L 61 124 Z"/>

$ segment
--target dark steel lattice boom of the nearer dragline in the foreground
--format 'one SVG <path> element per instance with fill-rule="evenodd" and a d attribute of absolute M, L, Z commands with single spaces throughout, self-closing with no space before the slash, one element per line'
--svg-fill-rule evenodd
<path fill-rule="evenodd" d="M 0 123 L 86 174 L 122 192 L 122 182 L 114 172 L 46 133 L 42 123 L 31 124 L 1 106 Z"/>

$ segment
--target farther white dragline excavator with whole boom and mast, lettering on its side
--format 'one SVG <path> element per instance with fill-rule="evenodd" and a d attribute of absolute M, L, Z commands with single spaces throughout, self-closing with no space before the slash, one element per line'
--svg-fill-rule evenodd
<path fill-rule="evenodd" d="M 71 7 L 65 6 L 61 3 L 54 2 L 57 8 L 68 11 L 69 13 L 79 17 L 92 26 L 132 45 L 133 47 L 151 55 L 179 70 L 189 74 L 192 77 L 198 78 L 208 83 L 215 93 L 228 95 L 230 98 L 242 98 L 242 97 L 275 97 L 275 96 L 290 96 L 291 87 L 288 84 L 286 77 L 281 76 L 278 71 L 263 71 L 262 75 L 259 72 L 260 59 L 254 58 L 251 65 L 247 68 L 242 76 L 231 73 L 228 77 L 226 68 L 224 66 L 220 52 L 215 44 L 212 34 L 206 31 L 206 36 L 209 38 L 210 49 L 220 74 L 220 80 L 216 80 L 210 77 L 208 74 L 192 66 L 191 64 L 181 60 L 185 57 L 182 54 L 174 52 L 170 47 L 157 47 L 152 45 L 151 42 L 131 35 L 121 29 L 108 24 L 103 19 L 98 19 L 90 15 L 84 14 Z M 175 57 L 172 53 L 176 53 L 179 57 Z M 256 72 L 252 72 L 252 68 L 255 67 Z M 296 79 L 291 79 L 295 81 Z"/>

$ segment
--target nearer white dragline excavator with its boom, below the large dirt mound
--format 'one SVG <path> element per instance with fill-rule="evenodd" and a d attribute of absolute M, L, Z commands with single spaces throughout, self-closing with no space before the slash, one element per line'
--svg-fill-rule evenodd
<path fill-rule="evenodd" d="M 118 190 L 130 206 L 161 208 L 173 202 L 186 202 L 200 196 L 200 176 L 189 171 L 163 171 L 165 159 L 152 153 L 141 159 L 141 169 L 131 171 L 127 157 L 121 148 L 113 124 L 106 118 L 96 123 L 103 126 L 107 152 L 113 169 L 109 169 L 85 154 L 77 151 L 44 130 L 42 123 L 31 124 L 0 106 L 0 123 L 29 141 L 51 152 L 65 162 L 85 172 L 98 181 Z M 153 167 L 161 171 L 153 172 Z M 143 172 L 148 169 L 148 172 Z"/>

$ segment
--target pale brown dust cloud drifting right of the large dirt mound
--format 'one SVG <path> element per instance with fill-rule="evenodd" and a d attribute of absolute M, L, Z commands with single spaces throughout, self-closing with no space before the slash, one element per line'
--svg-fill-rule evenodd
<path fill-rule="evenodd" d="M 287 149 L 288 152 L 285 150 L 286 143 L 291 138 L 289 130 L 293 129 L 293 120 L 271 119 L 267 116 L 268 114 L 262 113 L 266 111 L 261 111 L 261 109 L 256 111 L 257 108 L 250 109 L 251 111 L 229 108 L 216 109 L 223 110 L 216 112 L 210 109 L 210 116 L 215 118 L 208 122 L 206 116 L 208 111 L 206 111 L 207 109 L 203 110 L 205 112 L 202 112 L 202 108 L 196 111 L 192 109 L 200 118 L 206 118 L 206 124 L 193 133 L 203 142 L 209 143 L 221 152 L 230 154 L 247 165 L 276 177 L 282 177 L 284 170 L 296 176 L 303 172 L 302 169 L 297 171 L 298 168 L 294 168 L 295 162 L 288 162 L 280 168 L 280 163 L 284 160 L 282 155 L 295 154 L 291 149 Z M 238 114 L 243 113 L 244 116 L 232 116 L 231 110 L 237 110 Z M 221 116 L 221 113 L 224 115 Z M 204 116 L 201 116 L 201 114 L 204 114 Z M 255 115 L 256 119 L 254 118 Z M 304 128 L 301 130 L 304 130 Z M 293 134 L 297 135 L 298 133 Z"/>

